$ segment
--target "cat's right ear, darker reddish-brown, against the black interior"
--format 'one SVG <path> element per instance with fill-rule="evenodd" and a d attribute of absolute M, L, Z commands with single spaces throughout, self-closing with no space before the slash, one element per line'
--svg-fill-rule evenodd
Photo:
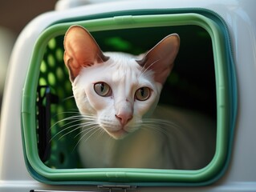
<path fill-rule="evenodd" d="M 148 51 L 140 61 L 136 61 L 144 70 L 153 70 L 156 82 L 165 83 L 173 69 L 173 62 L 180 48 L 178 34 L 170 34 Z"/>

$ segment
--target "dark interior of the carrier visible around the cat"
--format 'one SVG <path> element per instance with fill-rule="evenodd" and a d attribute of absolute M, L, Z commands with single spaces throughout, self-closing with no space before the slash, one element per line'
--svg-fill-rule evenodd
<path fill-rule="evenodd" d="M 177 33 L 181 47 L 173 72 L 165 82 L 161 104 L 206 114 L 216 121 L 216 87 L 212 41 L 200 26 L 161 26 L 91 32 L 104 51 L 141 54 L 166 35 Z M 49 167 L 79 168 L 76 144 L 78 112 L 72 97 L 71 82 L 63 63 L 63 35 L 52 38 L 40 67 L 38 99 L 39 157 Z M 67 129 L 74 128 L 74 131 Z"/>

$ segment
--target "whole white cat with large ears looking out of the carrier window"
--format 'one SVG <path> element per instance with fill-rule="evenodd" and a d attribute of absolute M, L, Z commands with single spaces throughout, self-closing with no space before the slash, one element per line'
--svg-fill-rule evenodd
<path fill-rule="evenodd" d="M 179 51 L 178 34 L 139 56 L 103 52 L 83 26 L 71 26 L 63 44 L 83 118 L 78 150 L 84 167 L 197 170 L 211 161 L 214 123 L 157 106 Z"/>

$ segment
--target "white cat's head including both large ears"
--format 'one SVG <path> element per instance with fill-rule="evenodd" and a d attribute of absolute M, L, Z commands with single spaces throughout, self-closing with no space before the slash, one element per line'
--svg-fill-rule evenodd
<path fill-rule="evenodd" d="M 179 36 L 170 34 L 140 59 L 103 53 L 87 30 L 71 26 L 64 38 L 64 62 L 80 113 L 94 116 L 112 138 L 137 130 L 155 109 L 179 46 Z"/>

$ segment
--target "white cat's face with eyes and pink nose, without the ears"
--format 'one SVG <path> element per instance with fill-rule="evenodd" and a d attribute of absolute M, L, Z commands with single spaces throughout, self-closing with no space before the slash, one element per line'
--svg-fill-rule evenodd
<path fill-rule="evenodd" d="M 94 115 L 109 135 L 123 138 L 154 110 L 161 83 L 127 55 L 108 55 L 107 62 L 80 72 L 72 83 L 73 93 L 81 114 Z"/>

